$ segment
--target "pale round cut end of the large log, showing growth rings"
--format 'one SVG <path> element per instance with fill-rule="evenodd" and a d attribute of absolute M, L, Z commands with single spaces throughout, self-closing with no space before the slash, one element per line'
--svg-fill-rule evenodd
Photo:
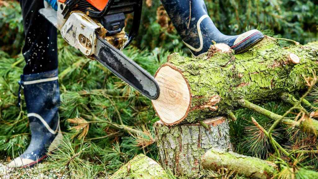
<path fill-rule="evenodd" d="M 163 65 L 157 71 L 160 95 L 152 104 L 163 123 L 174 125 L 181 122 L 188 114 L 190 107 L 190 89 L 188 82 L 179 70 Z"/>

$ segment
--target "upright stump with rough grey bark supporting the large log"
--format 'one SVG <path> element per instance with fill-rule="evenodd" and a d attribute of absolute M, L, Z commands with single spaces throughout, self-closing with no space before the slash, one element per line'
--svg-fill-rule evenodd
<path fill-rule="evenodd" d="M 205 119 L 202 124 L 154 125 L 156 143 L 162 166 L 175 175 L 197 179 L 206 174 L 201 156 L 211 148 L 231 150 L 229 125 L 225 117 Z M 204 126 L 203 126 L 204 125 Z"/>

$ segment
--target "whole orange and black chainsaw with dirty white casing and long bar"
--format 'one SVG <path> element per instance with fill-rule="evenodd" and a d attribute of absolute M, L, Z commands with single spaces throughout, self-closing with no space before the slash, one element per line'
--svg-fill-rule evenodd
<path fill-rule="evenodd" d="M 39 13 L 61 32 L 66 42 L 149 99 L 159 97 L 154 77 L 120 51 L 137 35 L 142 0 L 58 0 L 57 4 L 57 11 L 45 5 Z M 131 13 L 133 24 L 126 33 L 125 14 Z"/>

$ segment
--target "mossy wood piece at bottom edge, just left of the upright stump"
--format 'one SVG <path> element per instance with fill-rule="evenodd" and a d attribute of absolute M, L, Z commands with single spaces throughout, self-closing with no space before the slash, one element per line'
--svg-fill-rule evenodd
<path fill-rule="evenodd" d="M 109 179 L 124 178 L 167 179 L 169 177 L 156 161 L 139 154 L 109 177 Z"/>

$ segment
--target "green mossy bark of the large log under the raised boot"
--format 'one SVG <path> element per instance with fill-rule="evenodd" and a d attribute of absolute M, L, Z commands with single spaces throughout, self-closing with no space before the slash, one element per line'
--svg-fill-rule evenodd
<path fill-rule="evenodd" d="M 279 99 L 282 92 L 307 89 L 304 78 L 318 71 L 318 42 L 283 49 L 276 39 L 266 36 L 242 54 L 213 52 L 197 58 L 174 53 L 164 64 L 178 70 L 189 85 L 191 99 L 183 122 L 228 114 L 240 107 L 240 99 L 268 102 Z M 291 59 L 295 56 L 299 63 Z M 213 109 L 202 107 L 216 96 L 220 101 Z"/>

